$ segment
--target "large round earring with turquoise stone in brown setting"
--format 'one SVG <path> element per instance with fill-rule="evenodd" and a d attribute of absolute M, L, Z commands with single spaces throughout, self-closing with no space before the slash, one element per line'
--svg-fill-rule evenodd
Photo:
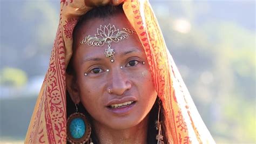
<path fill-rule="evenodd" d="M 90 139 L 91 125 L 83 113 L 76 112 L 71 114 L 67 120 L 67 140 L 71 143 L 85 143 Z"/>

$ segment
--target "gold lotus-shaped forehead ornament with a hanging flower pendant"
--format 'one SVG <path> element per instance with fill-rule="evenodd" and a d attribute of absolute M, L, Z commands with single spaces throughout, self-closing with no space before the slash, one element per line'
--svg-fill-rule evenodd
<path fill-rule="evenodd" d="M 118 43 L 120 40 L 129 38 L 129 35 L 134 33 L 133 30 L 123 28 L 122 31 L 116 29 L 114 25 L 108 24 L 107 26 L 100 25 L 100 28 L 97 29 L 97 34 L 94 37 L 90 35 L 86 36 L 80 44 L 88 44 L 92 46 L 103 46 L 107 44 L 107 49 L 105 49 L 104 54 L 107 58 L 110 58 L 111 63 L 114 62 L 114 49 L 111 48 L 111 43 Z"/>

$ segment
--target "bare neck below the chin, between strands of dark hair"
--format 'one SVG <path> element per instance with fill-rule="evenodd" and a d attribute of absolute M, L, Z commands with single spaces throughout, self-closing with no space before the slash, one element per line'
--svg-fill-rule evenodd
<path fill-rule="evenodd" d="M 93 121 L 99 143 L 147 143 L 147 127 L 149 116 L 138 125 L 127 129 L 112 129 Z"/>

